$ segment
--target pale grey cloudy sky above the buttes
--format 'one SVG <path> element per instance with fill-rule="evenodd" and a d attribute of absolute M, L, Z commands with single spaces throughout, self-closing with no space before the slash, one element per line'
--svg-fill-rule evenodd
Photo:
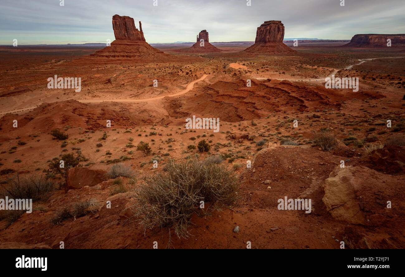
<path fill-rule="evenodd" d="M 0 44 L 66 44 L 114 40 L 112 16 L 142 21 L 149 43 L 254 41 L 256 28 L 281 20 L 285 38 L 350 39 L 404 34 L 404 0 L 1 0 Z M 157 6 L 153 3 L 157 2 Z"/>

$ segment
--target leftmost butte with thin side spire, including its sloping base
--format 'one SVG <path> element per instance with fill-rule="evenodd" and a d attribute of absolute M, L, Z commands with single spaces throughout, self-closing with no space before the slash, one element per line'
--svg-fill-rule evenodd
<path fill-rule="evenodd" d="M 139 21 L 138 30 L 132 17 L 114 15 L 113 30 L 115 40 L 111 42 L 111 46 L 96 51 L 91 55 L 92 57 L 103 59 L 105 62 L 164 62 L 172 59 L 170 55 L 151 47 L 146 42 L 141 21 Z"/>

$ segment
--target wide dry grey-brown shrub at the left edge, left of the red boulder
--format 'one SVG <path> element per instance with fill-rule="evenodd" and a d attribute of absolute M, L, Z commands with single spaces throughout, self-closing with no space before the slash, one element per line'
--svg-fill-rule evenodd
<path fill-rule="evenodd" d="M 42 175 L 20 178 L 17 174 L 13 178 L 8 178 L 7 183 L 1 186 L 2 195 L 14 199 L 32 199 L 33 202 L 48 199 L 55 190 L 53 180 L 43 178 Z"/>

